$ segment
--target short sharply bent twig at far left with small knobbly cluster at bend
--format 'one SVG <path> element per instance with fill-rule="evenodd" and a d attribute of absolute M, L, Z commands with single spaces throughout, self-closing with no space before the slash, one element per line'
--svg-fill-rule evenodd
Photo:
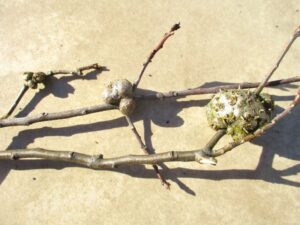
<path fill-rule="evenodd" d="M 44 83 L 44 79 L 50 76 L 54 76 L 54 75 L 58 75 L 58 74 L 72 74 L 75 76 L 79 76 L 79 75 L 83 75 L 83 71 L 85 70 L 90 70 L 90 69 L 106 69 L 105 67 L 99 66 L 98 63 L 94 63 L 88 66 L 84 66 L 84 67 L 79 67 L 76 70 L 51 70 L 49 72 L 25 72 L 24 75 L 28 75 L 30 74 L 30 80 L 31 80 L 31 85 L 28 85 L 28 82 L 26 82 L 20 93 L 18 94 L 17 98 L 15 99 L 14 103 L 11 105 L 11 107 L 9 108 L 8 112 L 1 117 L 1 119 L 6 119 L 8 118 L 13 111 L 15 110 L 15 108 L 17 107 L 17 105 L 19 104 L 19 102 L 21 101 L 22 97 L 24 96 L 24 94 L 26 93 L 26 91 L 29 88 L 33 88 L 35 89 L 37 87 L 37 83 Z M 33 80 L 32 77 L 37 76 L 39 78 L 42 78 L 40 81 L 37 80 Z M 28 81 L 28 80 L 26 80 Z"/>

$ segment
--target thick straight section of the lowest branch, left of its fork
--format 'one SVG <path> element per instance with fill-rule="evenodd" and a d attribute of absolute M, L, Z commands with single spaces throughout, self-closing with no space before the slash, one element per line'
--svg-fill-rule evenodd
<path fill-rule="evenodd" d="M 197 161 L 201 150 L 195 151 L 170 151 L 152 155 L 127 155 L 116 158 L 104 159 L 103 155 L 86 155 L 72 151 L 55 151 L 42 148 L 14 149 L 0 151 L 0 160 L 18 159 L 46 159 L 65 161 L 86 166 L 92 169 L 111 169 L 125 165 L 158 164 L 171 161 Z"/>

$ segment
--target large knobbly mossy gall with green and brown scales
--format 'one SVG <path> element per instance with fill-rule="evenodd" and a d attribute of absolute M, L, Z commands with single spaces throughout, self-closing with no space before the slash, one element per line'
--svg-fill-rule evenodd
<path fill-rule="evenodd" d="M 223 90 L 208 103 L 206 115 L 213 129 L 226 129 L 235 141 L 241 141 L 271 120 L 273 107 L 268 94 L 257 96 L 249 90 Z"/>

